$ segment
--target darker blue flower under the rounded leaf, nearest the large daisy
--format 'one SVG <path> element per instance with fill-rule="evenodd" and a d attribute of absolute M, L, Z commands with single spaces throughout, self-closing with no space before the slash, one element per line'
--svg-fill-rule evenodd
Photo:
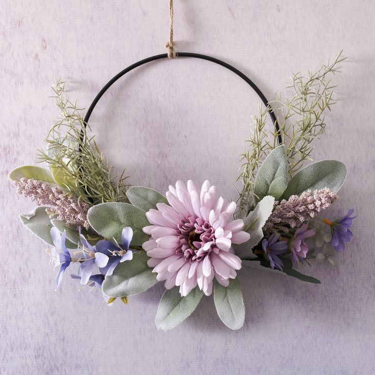
<path fill-rule="evenodd" d="M 122 230 L 122 243 L 118 244 L 116 241 L 111 242 L 106 239 L 99 240 L 96 245 L 96 251 L 111 255 L 108 263 L 100 270 L 105 276 L 111 276 L 117 264 L 125 260 L 133 259 L 133 252 L 129 250 L 131 239 L 133 238 L 133 230 L 130 227 L 125 227 Z"/>

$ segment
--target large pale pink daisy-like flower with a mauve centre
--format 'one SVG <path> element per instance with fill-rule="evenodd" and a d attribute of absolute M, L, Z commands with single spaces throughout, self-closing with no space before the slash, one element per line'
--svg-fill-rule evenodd
<path fill-rule="evenodd" d="M 242 220 L 230 221 L 235 202 L 219 197 L 216 186 L 208 181 L 200 190 L 191 180 L 177 181 L 176 187 L 169 186 L 166 197 L 170 205 L 158 203 L 157 209 L 150 209 L 146 216 L 152 225 L 143 228 L 151 235 L 143 249 L 157 280 L 166 280 L 167 289 L 179 286 L 181 296 L 197 285 L 209 296 L 214 277 L 228 286 L 242 265 L 231 246 L 250 239 L 242 231 Z"/>

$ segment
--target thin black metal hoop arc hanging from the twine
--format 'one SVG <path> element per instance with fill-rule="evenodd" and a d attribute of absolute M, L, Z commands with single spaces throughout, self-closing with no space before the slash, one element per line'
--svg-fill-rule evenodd
<path fill-rule="evenodd" d="M 271 108 L 271 105 L 270 105 L 269 101 L 266 99 L 266 97 L 260 91 L 260 89 L 254 84 L 254 82 L 251 81 L 251 79 L 249 77 L 247 77 L 243 72 L 240 72 L 238 69 L 236 69 L 233 66 L 225 63 L 224 61 L 221 61 L 219 59 L 215 59 L 215 58 L 210 57 L 210 56 L 200 55 L 199 53 L 191 53 L 191 52 L 179 52 L 179 53 L 177 53 L 177 57 L 192 57 L 192 58 L 195 58 L 195 59 L 207 60 L 207 61 L 211 61 L 212 63 L 221 65 L 224 68 L 227 68 L 227 69 L 231 70 L 233 73 L 235 73 L 239 77 L 241 77 L 258 94 L 258 96 L 260 97 L 260 99 L 262 100 L 262 102 L 264 103 L 265 106 L 270 106 L 270 108 Z M 135 64 L 132 64 L 132 65 L 128 66 L 127 68 L 125 68 L 124 70 L 122 70 L 120 73 L 116 74 L 111 79 L 111 81 L 109 81 L 99 91 L 99 93 L 96 95 L 95 99 L 91 103 L 91 105 L 90 105 L 90 107 L 89 107 L 89 109 L 88 109 L 88 111 L 86 113 L 85 119 L 84 119 L 85 126 L 89 122 L 89 119 L 90 119 L 90 116 L 92 114 L 92 111 L 94 110 L 94 108 L 95 108 L 96 104 L 98 103 L 98 101 L 100 100 L 100 98 L 103 96 L 103 94 L 105 93 L 105 91 L 107 91 L 119 78 L 121 78 L 123 75 L 125 75 L 129 71 L 131 71 L 131 70 L 133 70 L 135 68 L 138 68 L 141 65 L 150 63 L 151 61 L 160 60 L 160 59 L 167 59 L 167 58 L 168 58 L 167 53 L 162 53 L 161 55 L 151 56 L 151 57 L 149 57 L 147 59 L 143 59 L 143 60 L 141 60 L 141 61 L 139 61 L 139 62 L 137 62 Z M 272 122 L 274 123 L 275 129 L 276 129 L 277 142 L 280 145 L 282 143 L 280 128 L 279 128 L 276 116 L 275 116 L 272 108 L 271 108 L 271 111 L 269 112 L 269 114 L 271 116 Z"/>

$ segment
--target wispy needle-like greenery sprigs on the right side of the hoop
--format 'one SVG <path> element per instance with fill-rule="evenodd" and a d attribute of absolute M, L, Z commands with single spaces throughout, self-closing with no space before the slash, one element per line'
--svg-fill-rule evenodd
<path fill-rule="evenodd" d="M 332 74 L 339 72 L 339 64 L 345 60 L 342 50 L 332 63 L 320 67 L 315 73 L 293 74 L 291 84 L 282 94 L 276 95 L 275 112 L 280 113 L 278 124 L 286 148 L 290 177 L 298 172 L 303 164 L 311 159 L 314 149 L 313 141 L 325 134 L 325 113 L 335 103 L 333 95 Z M 291 98 L 288 98 L 291 92 Z M 248 140 L 249 146 L 242 156 L 243 165 L 238 179 L 243 187 L 238 197 L 238 213 L 247 215 L 254 208 L 254 180 L 262 160 L 277 146 L 277 133 L 266 129 L 266 114 L 260 108 L 259 115 L 254 116 L 254 130 Z M 271 139 L 271 141 L 270 141 Z"/>

